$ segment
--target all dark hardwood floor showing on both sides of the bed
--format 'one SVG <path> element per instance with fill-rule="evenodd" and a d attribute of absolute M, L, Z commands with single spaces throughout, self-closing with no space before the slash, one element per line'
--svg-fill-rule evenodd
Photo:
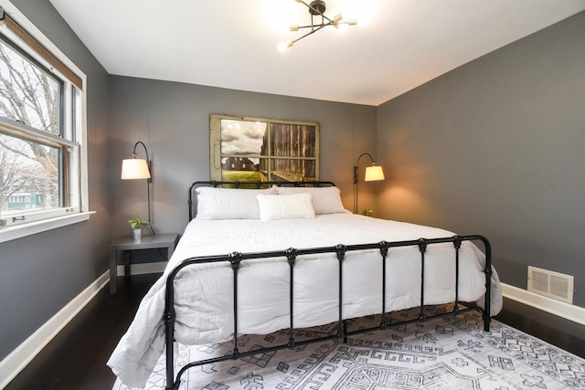
<path fill-rule="evenodd" d="M 106 361 L 158 276 L 133 276 L 131 283 L 119 278 L 113 296 L 106 286 L 5 390 L 112 389 Z M 505 300 L 504 308 L 496 320 L 585 357 L 585 326 L 514 300 Z"/>

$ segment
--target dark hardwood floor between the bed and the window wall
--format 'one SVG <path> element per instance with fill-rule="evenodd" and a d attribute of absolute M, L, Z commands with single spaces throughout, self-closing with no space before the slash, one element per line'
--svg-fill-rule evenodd
<path fill-rule="evenodd" d="M 130 283 L 119 277 L 114 295 L 106 285 L 5 390 L 112 389 L 105 364 L 159 276 L 135 275 Z"/>

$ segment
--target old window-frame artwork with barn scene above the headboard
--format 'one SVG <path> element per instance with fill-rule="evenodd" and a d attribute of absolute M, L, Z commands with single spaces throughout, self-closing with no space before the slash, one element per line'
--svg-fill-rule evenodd
<path fill-rule="evenodd" d="M 209 115 L 211 180 L 319 180 L 319 123 Z"/>

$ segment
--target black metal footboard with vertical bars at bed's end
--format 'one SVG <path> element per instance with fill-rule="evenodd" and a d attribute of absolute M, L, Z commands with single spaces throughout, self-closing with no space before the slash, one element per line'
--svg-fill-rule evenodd
<path fill-rule="evenodd" d="M 480 307 L 471 307 L 471 308 L 460 308 L 459 306 L 459 252 L 463 241 L 481 241 L 484 244 L 484 253 L 485 253 L 485 300 L 484 300 L 484 308 Z M 452 311 L 433 314 L 430 316 L 425 315 L 424 312 L 424 301 L 425 301 L 425 291 L 424 291 L 424 269 L 425 269 L 425 253 L 427 251 L 427 247 L 433 244 L 440 244 L 440 243 L 452 243 L 453 247 L 455 248 L 455 301 L 454 301 L 454 308 Z M 418 247 L 420 250 L 420 264 L 421 264 L 421 275 L 420 275 L 420 313 L 419 317 L 416 319 L 408 320 L 408 321 L 399 321 L 399 322 L 392 322 L 388 323 L 387 321 L 387 312 L 386 308 L 386 268 L 387 268 L 387 261 L 388 258 L 388 249 L 390 248 L 399 248 L 399 247 Z M 380 253 L 380 258 L 382 260 L 382 302 L 381 302 L 381 310 L 379 313 L 381 314 L 381 321 L 379 326 L 367 328 L 367 329 L 360 329 L 356 331 L 349 332 L 346 329 L 346 321 L 343 319 L 343 261 L 346 258 L 346 253 L 350 251 L 356 250 L 365 250 L 365 249 L 378 249 Z M 336 334 L 327 335 L 324 337 L 315 338 L 312 340 L 303 340 L 303 341 L 295 341 L 293 330 L 294 330 L 294 312 L 293 312 L 293 298 L 294 298 L 294 290 L 293 290 L 293 281 L 294 281 L 294 265 L 296 262 L 297 257 L 303 255 L 311 255 L 311 254 L 323 254 L 323 253 L 332 253 L 335 254 L 339 267 L 338 267 L 338 277 L 339 277 L 339 292 L 338 292 L 338 325 L 337 325 L 337 332 Z M 289 326 L 289 342 L 286 344 L 282 344 L 279 346 L 273 346 L 270 348 L 265 348 L 261 350 L 255 350 L 250 352 L 239 352 L 238 349 L 238 271 L 239 266 L 242 260 L 254 260 L 254 259 L 261 259 L 261 258 L 287 258 L 289 266 L 290 266 L 290 292 L 289 292 L 289 304 L 290 304 L 290 326 Z M 399 324 L 405 324 L 415 321 L 426 321 L 431 320 L 432 318 L 436 317 L 444 317 L 448 315 L 456 315 L 458 313 L 462 313 L 465 311 L 480 311 L 482 313 L 482 317 L 484 320 L 484 331 L 489 331 L 490 326 L 490 297 L 491 297 L 491 279 L 492 279 L 492 249 L 490 246 L 489 241 L 483 236 L 454 236 L 454 237 L 445 237 L 445 238 L 420 238 L 418 240 L 410 240 L 410 241 L 397 241 L 397 242 L 386 242 L 382 241 L 377 244 L 364 244 L 364 245 L 337 245 L 335 247 L 324 247 L 324 248 L 310 248 L 310 249 L 297 249 L 297 248 L 289 248 L 283 251 L 271 251 L 271 252 L 258 252 L 258 253 L 239 253 L 234 252 L 226 256 L 209 256 L 209 257 L 200 257 L 200 258 L 187 258 L 181 264 L 179 264 L 176 269 L 174 269 L 168 276 L 166 280 L 166 300 L 165 300 L 165 348 L 166 348 L 166 389 L 178 389 L 181 383 L 181 376 L 186 372 L 187 369 L 203 365 L 209 363 L 218 363 L 227 361 L 230 359 L 238 359 L 240 357 L 246 357 L 255 355 L 258 353 L 268 353 L 272 351 L 278 351 L 285 348 L 294 348 L 308 343 L 317 343 L 323 342 L 326 340 L 332 339 L 346 339 L 348 336 L 352 336 L 355 334 L 360 334 L 364 332 L 372 332 L 376 330 L 385 330 Z M 202 263 L 214 263 L 214 262 L 229 262 L 231 265 L 231 269 L 233 270 L 233 302 L 234 302 L 234 334 L 233 334 L 233 350 L 232 353 L 225 356 L 219 356 L 212 359 L 207 359 L 199 362 L 192 362 L 186 364 L 182 367 L 178 374 L 175 377 L 175 369 L 174 369 L 174 342 L 175 342 L 175 290 L 174 290 L 174 281 L 176 274 L 187 266 L 195 265 L 195 264 L 202 264 Z"/>

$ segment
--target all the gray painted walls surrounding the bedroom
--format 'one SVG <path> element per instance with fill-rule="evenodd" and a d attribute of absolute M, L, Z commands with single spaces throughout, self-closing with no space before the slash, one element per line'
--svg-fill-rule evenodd
<path fill-rule="evenodd" d="M 0 359 L 107 269 L 128 218 L 146 216 L 144 182 L 119 178 L 134 142 L 154 163 L 156 231 L 183 231 L 186 188 L 209 174 L 210 113 L 319 121 L 321 177 L 347 208 L 356 158 L 372 153 L 388 180 L 360 184 L 360 209 L 484 234 L 505 282 L 526 287 L 528 264 L 574 274 L 584 305 L 585 13 L 376 108 L 108 76 L 47 0 L 13 3 L 88 75 L 97 214 L 0 244 Z"/>

